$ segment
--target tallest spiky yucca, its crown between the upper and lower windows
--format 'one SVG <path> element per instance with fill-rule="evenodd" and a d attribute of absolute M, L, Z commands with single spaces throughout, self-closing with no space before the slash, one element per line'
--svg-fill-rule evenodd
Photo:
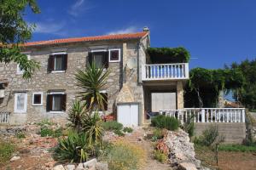
<path fill-rule="evenodd" d="M 103 110 L 104 103 L 107 102 L 101 90 L 107 84 L 108 75 L 109 71 L 105 71 L 104 66 L 98 68 L 95 62 L 75 74 L 77 85 L 84 90 L 79 94 L 87 102 L 86 108 L 90 112 Z"/>

